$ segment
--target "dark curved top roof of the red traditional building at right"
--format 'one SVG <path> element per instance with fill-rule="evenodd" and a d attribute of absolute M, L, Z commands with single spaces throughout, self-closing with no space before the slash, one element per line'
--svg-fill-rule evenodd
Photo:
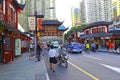
<path fill-rule="evenodd" d="M 99 21 L 99 22 L 94 22 L 94 23 L 90 23 L 87 27 L 83 28 L 83 30 L 91 28 L 91 27 L 97 27 L 97 26 L 102 26 L 102 25 L 110 25 L 112 24 L 111 22 L 106 22 L 106 21 Z"/>

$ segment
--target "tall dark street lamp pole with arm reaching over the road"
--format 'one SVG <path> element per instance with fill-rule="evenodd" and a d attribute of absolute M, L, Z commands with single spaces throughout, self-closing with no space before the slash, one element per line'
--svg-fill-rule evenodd
<path fill-rule="evenodd" d="M 55 7 L 48 7 L 46 9 L 43 9 L 41 12 L 47 10 L 47 9 L 55 9 Z M 37 18 L 44 18 L 44 15 L 37 15 L 36 11 L 36 1 L 34 1 L 34 10 L 35 10 L 35 35 L 34 35 L 34 45 L 35 45 L 35 54 L 36 54 L 36 48 L 37 48 Z"/>

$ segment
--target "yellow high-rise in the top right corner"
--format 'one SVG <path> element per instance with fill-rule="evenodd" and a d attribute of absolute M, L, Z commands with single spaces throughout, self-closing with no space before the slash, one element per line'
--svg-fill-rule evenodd
<path fill-rule="evenodd" d="M 120 15 L 120 0 L 112 2 L 112 18 Z"/>

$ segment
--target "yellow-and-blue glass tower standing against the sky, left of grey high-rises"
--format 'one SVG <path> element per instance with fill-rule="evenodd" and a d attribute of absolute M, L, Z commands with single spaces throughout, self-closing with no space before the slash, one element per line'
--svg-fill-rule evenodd
<path fill-rule="evenodd" d="M 71 8 L 71 15 L 72 15 L 72 26 L 79 26 L 80 25 L 80 9 L 79 8 Z"/>

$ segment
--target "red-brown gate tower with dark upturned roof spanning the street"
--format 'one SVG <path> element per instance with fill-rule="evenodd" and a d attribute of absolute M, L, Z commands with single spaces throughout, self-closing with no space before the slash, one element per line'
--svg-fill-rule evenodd
<path fill-rule="evenodd" d="M 59 30 L 59 26 L 63 22 L 58 20 L 44 20 L 42 22 L 42 30 L 39 30 L 40 36 L 62 36 L 65 30 Z"/>

